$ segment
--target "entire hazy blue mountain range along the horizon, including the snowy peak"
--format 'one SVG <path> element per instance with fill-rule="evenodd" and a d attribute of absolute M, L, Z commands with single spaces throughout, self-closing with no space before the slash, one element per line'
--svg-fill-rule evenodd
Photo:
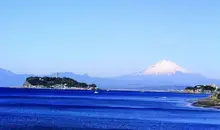
<path fill-rule="evenodd" d="M 16 74 L 0 69 L 0 87 L 22 86 L 30 74 Z M 56 73 L 45 75 L 56 76 Z M 90 77 L 71 72 L 60 72 L 60 77 L 70 77 L 88 84 L 95 83 L 100 88 L 119 89 L 183 89 L 189 85 L 217 84 L 220 80 L 210 79 L 200 74 L 190 73 L 171 61 L 162 60 L 143 71 L 113 78 Z"/>

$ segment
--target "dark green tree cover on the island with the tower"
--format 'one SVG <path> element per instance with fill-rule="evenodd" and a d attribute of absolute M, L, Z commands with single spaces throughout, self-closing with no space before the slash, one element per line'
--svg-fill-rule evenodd
<path fill-rule="evenodd" d="M 55 86 L 67 87 L 67 88 L 90 88 L 97 89 L 95 84 L 88 85 L 86 83 L 77 82 L 71 78 L 56 78 L 56 77 L 28 77 L 26 83 L 31 86 L 43 86 L 47 88 L 53 88 Z"/>

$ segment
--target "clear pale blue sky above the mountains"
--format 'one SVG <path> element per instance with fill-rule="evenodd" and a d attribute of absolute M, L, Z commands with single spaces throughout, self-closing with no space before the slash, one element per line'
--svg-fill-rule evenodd
<path fill-rule="evenodd" d="M 220 1 L 0 1 L 0 59 L 16 73 L 99 77 L 171 60 L 220 78 Z"/>

